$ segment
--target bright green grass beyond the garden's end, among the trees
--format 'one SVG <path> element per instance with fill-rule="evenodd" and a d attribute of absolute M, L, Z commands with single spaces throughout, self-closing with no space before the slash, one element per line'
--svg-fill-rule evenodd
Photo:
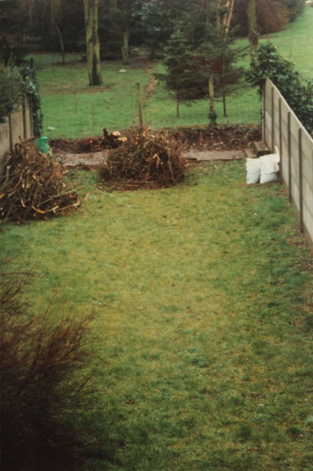
<path fill-rule="evenodd" d="M 308 71 L 308 75 L 312 77 L 312 8 L 307 7 L 305 14 L 291 24 L 288 30 L 275 34 L 270 40 L 278 45 L 284 57 L 295 60 L 297 70 L 302 73 Z M 239 44 L 247 45 L 247 40 L 241 40 Z M 78 58 L 75 55 L 68 56 L 67 61 Z M 100 135 L 103 127 L 113 130 L 138 124 L 136 81 L 141 82 L 143 95 L 147 97 L 147 86 L 153 80 L 148 69 L 141 68 L 140 64 L 124 66 L 116 62 L 105 62 L 102 66 L 103 86 L 90 89 L 83 63 L 52 68 L 51 63 L 57 60 L 61 60 L 60 57 L 36 57 L 41 84 L 44 133 L 48 137 L 79 138 Z M 246 64 L 248 65 L 248 58 Z M 122 67 L 126 69 L 126 73 L 118 73 Z M 156 67 L 159 66 L 156 64 L 152 69 Z M 181 105 L 181 118 L 176 118 L 175 103 L 164 86 L 157 85 L 155 91 L 152 98 L 144 100 L 144 119 L 152 128 L 207 123 L 206 100 L 200 100 L 192 106 Z M 255 90 L 247 89 L 236 97 L 229 97 L 227 101 L 227 118 L 222 117 L 222 104 L 218 102 L 216 105 L 219 122 L 259 121 L 260 102 Z M 48 131 L 48 126 L 54 127 L 55 130 Z"/>

